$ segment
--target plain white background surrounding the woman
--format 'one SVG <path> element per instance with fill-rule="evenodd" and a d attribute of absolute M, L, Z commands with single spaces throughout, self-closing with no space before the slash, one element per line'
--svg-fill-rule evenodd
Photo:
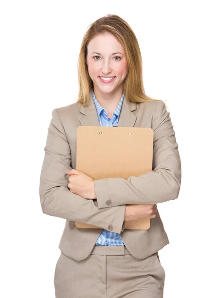
<path fill-rule="evenodd" d="M 179 145 L 179 197 L 158 204 L 170 241 L 159 251 L 164 298 L 218 297 L 216 2 L 1 1 L 1 297 L 55 297 L 65 220 L 40 206 L 47 129 L 54 108 L 76 101 L 83 35 L 108 13 L 134 30 L 146 94 L 167 104 Z"/>

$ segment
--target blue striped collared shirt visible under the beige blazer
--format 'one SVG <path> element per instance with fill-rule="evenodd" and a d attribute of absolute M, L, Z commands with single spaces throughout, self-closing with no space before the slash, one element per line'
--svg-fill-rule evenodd
<path fill-rule="evenodd" d="M 108 112 L 100 105 L 100 103 L 97 101 L 94 90 L 92 89 L 92 97 L 96 106 L 98 119 L 100 122 L 100 126 L 118 126 L 118 119 L 119 114 L 122 107 L 122 102 L 124 98 L 124 93 L 122 94 L 122 97 L 119 101 L 119 104 L 117 108 L 115 109 L 114 113 L 112 114 L 112 119 L 108 118 Z M 125 245 L 122 241 L 122 238 L 118 233 L 114 233 L 111 231 L 108 231 L 107 229 L 104 229 L 103 232 L 98 237 L 95 245 Z"/>

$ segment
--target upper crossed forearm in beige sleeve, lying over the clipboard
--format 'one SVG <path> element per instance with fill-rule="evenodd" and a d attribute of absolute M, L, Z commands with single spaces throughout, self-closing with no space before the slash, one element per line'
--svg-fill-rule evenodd
<path fill-rule="evenodd" d="M 162 203 L 176 199 L 180 190 L 178 182 L 166 170 L 150 171 L 139 177 L 131 176 L 127 179 L 103 180 L 95 180 L 95 192 L 97 199 L 100 198 L 100 209 L 124 204 Z"/>

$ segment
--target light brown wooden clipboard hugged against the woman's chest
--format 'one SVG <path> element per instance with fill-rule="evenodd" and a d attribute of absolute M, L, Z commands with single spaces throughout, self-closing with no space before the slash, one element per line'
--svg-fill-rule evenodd
<path fill-rule="evenodd" d="M 153 139 L 152 128 L 79 126 L 76 169 L 93 180 L 142 175 L 152 170 Z M 75 225 L 102 228 L 79 222 Z M 124 229 L 146 230 L 149 227 L 150 219 L 126 221 L 124 224 Z"/>

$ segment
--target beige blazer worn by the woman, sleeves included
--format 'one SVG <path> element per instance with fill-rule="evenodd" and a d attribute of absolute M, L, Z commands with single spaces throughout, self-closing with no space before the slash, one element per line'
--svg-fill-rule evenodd
<path fill-rule="evenodd" d="M 107 229 L 120 234 L 134 257 L 143 259 L 154 254 L 169 243 L 159 211 L 151 219 L 148 230 L 124 230 L 123 227 L 126 204 L 157 204 L 174 200 L 179 194 L 181 162 L 164 102 L 130 103 L 124 96 L 118 126 L 154 130 L 153 170 L 128 179 L 95 180 L 95 200 L 75 195 L 67 186 L 65 172 L 76 168 L 80 125 L 100 126 L 92 93 L 89 106 L 76 102 L 54 109 L 48 128 L 39 194 L 44 214 L 66 219 L 59 249 L 77 261 L 83 260 L 89 256 L 100 233 Z M 102 228 L 77 228 L 75 222 Z"/>

